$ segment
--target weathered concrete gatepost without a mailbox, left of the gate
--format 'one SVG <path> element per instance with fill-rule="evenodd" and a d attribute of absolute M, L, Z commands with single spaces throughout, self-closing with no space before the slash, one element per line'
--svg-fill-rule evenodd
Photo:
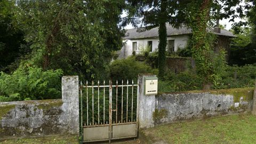
<path fill-rule="evenodd" d="M 63 76 L 61 81 L 62 101 L 66 103 L 68 131 L 79 134 L 79 83 L 78 76 Z"/>

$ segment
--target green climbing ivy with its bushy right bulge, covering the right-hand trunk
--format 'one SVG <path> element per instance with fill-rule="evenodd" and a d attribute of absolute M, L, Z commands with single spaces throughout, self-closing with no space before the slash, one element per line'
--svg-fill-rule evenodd
<path fill-rule="evenodd" d="M 207 30 L 212 1 L 203 0 L 195 4 L 197 6 L 194 7 L 199 7 L 199 9 L 194 9 L 191 12 L 194 13 L 190 22 L 193 32 L 191 52 L 196 62 L 197 74 L 202 78 L 203 89 L 210 89 L 210 86 L 218 78 L 219 70 L 225 65 L 225 51 L 213 51 L 216 36 Z"/>

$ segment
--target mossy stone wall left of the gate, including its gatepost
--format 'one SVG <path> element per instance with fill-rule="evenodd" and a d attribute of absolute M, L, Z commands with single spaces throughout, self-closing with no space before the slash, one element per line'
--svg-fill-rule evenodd
<path fill-rule="evenodd" d="M 0 102 L 0 140 L 78 133 L 78 76 L 62 77 L 62 99 Z"/>

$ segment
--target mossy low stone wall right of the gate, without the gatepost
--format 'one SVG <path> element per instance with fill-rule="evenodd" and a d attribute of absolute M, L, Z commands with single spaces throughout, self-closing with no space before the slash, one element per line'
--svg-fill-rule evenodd
<path fill-rule="evenodd" d="M 253 88 L 156 95 L 155 125 L 251 111 Z"/>

